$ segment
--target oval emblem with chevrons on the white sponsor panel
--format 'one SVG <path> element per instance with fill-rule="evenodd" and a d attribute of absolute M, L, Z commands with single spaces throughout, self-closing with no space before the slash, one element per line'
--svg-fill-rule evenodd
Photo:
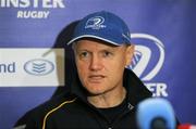
<path fill-rule="evenodd" d="M 54 69 L 54 64 L 48 60 L 36 59 L 24 64 L 24 69 L 27 74 L 35 76 L 48 75 Z"/>

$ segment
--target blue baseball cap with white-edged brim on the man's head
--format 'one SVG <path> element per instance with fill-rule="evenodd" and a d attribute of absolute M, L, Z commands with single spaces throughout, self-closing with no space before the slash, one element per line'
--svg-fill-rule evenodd
<path fill-rule="evenodd" d="M 127 25 L 118 15 L 106 11 L 89 14 L 81 20 L 68 44 L 82 38 L 95 38 L 114 46 L 131 44 Z"/>

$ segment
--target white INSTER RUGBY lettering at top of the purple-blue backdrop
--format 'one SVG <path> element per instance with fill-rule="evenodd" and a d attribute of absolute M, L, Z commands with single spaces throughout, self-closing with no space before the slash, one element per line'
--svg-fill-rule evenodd
<path fill-rule="evenodd" d="M 64 9 L 64 0 L 0 0 L 0 8 L 19 9 L 17 18 L 48 18 L 52 9 Z"/>

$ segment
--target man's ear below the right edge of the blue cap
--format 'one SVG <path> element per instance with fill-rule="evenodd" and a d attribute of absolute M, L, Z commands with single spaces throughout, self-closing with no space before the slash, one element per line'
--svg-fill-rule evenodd
<path fill-rule="evenodd" d="M 128 46 L 126 48 L 126 66 L 132 63 L 134 51 L 135 51 L 135 46 L 134 44 L 131 44 L 131 46 Z"/>

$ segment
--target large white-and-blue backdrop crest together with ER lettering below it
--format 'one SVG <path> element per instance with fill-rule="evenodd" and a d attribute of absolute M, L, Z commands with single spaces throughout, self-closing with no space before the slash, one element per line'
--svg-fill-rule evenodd
<path fill-rule="evenodd" d="M 130 68 L 154 92 L 154 96 L 168 96 L 167 83 L 161 80 L 158 82 L 152 81 L 158 76 L 164 63 L 164 46 L 162 41 L 147 34 L 132 34 L 131 38 L 142 43 L 135 47 L 135 53 Z"/>

